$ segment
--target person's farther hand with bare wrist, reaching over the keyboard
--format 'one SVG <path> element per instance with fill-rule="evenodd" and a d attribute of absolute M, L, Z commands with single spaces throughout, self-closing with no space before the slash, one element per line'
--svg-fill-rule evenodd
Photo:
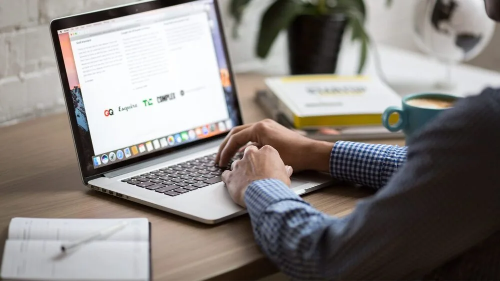
<path fill-rule="evenodd" d="M 296 172 L 329 171 L 332 143 L 306 138 L 268 119 L 233 128 L 220 144 L 215 162 L 219 167 L 226 167 L 232 156 L 248 142 L 257 147 L 272 146 L 284 164 Z"/>

